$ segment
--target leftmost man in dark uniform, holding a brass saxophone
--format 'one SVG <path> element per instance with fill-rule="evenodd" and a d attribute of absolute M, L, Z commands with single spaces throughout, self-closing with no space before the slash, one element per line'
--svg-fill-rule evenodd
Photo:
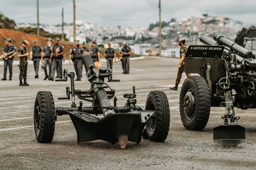
<path fill-rule="evenodd" d="M 16 47 L 11 44 L 10 38 L 5 39 L 5 44 L 6 44 L 6 46 L 4 48 L 3 54 L 5 56 L 7 56 L 8 58 L 7 58 L 7 60 L 4 59 L 4 77 L 1 80 L 7 80 L 6 79 L 7 67 L 9 67 L 9 80 L 11 80 L 12 62 L 13 62 L 14 55 L 17 54 L 17 50 L 16 50 Z M 13 53 L 11 53 L 11 52 L 13 52 Z M 11 54 L 8 54 L 8 53 L 11 53 Z"/>

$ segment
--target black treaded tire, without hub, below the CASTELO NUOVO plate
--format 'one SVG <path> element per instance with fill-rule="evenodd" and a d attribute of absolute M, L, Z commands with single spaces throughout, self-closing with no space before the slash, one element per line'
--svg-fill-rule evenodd
<path fill-rule="evenodd" d="M 188 120 L 184 114 L 183 102 L 185 92 L 191 87 L 195 93 L 196 108 L 194 117 Z M 180 93 L 180 116 L 187 130 L 201 131 L 207 125 L 211 111 L 210 89 L 206 80 L 201 76 L 190 76 L 185 79 Z"/>

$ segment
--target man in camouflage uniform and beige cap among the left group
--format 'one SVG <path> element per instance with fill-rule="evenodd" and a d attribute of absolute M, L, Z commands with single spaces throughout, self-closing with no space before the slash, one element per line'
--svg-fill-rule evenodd
<path fill-rule="evenodd" d="M 20 58 L 20 86 L 29 85 L 26 82 L 27 79 L 27 46 L 29 45 L 27 40 L 24 40 L 22 45 L 18 48 L 18 57 Z M 22 83 L 22 78 L 24 79 L 24 83 Z"/>

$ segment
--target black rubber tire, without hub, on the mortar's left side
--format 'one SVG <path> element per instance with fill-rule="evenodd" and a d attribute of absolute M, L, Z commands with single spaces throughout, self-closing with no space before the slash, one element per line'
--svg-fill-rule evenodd
<path fill-rule="evenodd" d="M 40 105 L 41 125 L 38 131 L 36 127 L 36 107 Z M 51 143 L 55 130 L 55 105 L 50 91 L 39 91 L 34 105 L 34 129 L 39 143 Z"/>

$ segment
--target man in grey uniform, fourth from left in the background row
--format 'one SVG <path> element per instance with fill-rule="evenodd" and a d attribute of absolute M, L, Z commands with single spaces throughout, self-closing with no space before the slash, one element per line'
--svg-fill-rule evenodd
<path fill-rule="evenodd" d="M 51 54 L 52 54 L 52 50 L 53 50 L 53 45 L 52 45 L 52 39 L 48 38 L 47 39 L 47 45 L 44 46 L 43 48 L 43 54 L 42 54 L 42 63 L 43 63 L 43 70 L 44 70 L 44 79 L 46 80 L 48 78 L 48 80 L 52 80 L 51 79 L 51 74 L 52 74 L 52 63 L 49 62 Z M 47 65 L 49 68 L 49 75 L 47 74 Z"/>

